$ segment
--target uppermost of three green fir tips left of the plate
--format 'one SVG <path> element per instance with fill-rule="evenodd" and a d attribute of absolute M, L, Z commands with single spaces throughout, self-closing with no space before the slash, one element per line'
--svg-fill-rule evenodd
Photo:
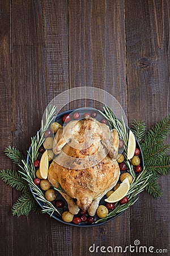
<path fill-rule="evenodd" d="M 8 146 L 5 148 L 4 152 L 8 156 L 8 158 L 10 158 L 15 164 L 21 164 L 22 159 L 24 159 L 23 154 L 15 147 Z"/>

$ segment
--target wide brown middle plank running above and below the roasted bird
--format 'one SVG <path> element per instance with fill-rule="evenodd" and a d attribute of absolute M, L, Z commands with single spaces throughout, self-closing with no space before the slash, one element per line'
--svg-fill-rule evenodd
<path fill-rule="evenodd" d="M 126 112 L 124 1 L 69 1 L 68 10 L 70 88 L 94 86 L 107 90 Z M 92 100 L 70 106 L 103 108 Z M 129 211 L 103 226 L 72 230 L 73 255 L 91 255 L 88 249 L 93 243 L 124 247 L 130 241 Z"/>

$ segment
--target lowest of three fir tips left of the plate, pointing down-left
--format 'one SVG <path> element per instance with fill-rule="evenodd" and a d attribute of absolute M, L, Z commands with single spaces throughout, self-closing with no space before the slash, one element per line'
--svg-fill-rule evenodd
<path fill-rule="evenodd" d="M 34 200 L 31 191 L 23 193 L 13 205 L 12 214 L 18 217 L 22 215 L 28 216 L 29 212 L 31 212 L 32 208 L 35 206 Z"/>

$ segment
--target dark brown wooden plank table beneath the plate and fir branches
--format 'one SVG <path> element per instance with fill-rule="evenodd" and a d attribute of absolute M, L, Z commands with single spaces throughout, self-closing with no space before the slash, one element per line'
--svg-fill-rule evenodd
<path fill-rule="evenodd" d="M 3 154 L 5 147 L 25 153 L 48 103 L 69 88 L 94 86 L 111 93 L 129 125 L 143 119 L 148 129 L 169 112 L 168 0 L 0 3 L 1 169 L 16 168 Z M 85 103 L 99 108 L 97 102 Z M 71 102 L 64 110 L 83 104 Z M 0 183 L 2 256 L 113 255 L 100 247 L 125 249 L 135 240 L 168 249 L 169 176 L 159 180 L 160 199 L 143 192 L 121 216 L 90 228 L 63 225 L 47 214 L 12 217 L 20 192 Z M 90 253 L 93 243 L 98 253 Z"/>

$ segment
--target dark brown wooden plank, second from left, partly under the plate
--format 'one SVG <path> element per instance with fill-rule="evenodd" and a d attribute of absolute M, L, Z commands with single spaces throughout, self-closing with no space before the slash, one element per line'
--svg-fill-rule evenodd
<path fill-rule="evenodd" d="M 12 31 L 13 143 L 25 152 L 46 105 L 68 88 L 67 2 L 15 1 Z M 46 214 L 14 217 L 14 255 L 69 255 L 70 234 Z"/>

